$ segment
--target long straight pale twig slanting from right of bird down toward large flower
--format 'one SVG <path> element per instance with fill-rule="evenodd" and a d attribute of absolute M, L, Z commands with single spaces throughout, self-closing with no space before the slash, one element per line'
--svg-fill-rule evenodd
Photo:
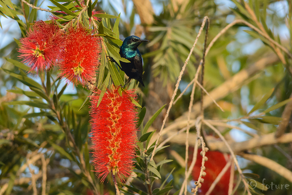
<path fill-rule="evenodd" d="M 166 119 L 167 119 L 167 117 L 168 117 L 168 114 L 169 114 L 170 108 L 172 107 L 172 103 L 173 103 L 174 97 L 176 96 L 176 92 L 177 92 L 177 90 L 178 90 L 178 87 L 179 87 L 180 80 L 181 80 L 181 77 L 182 77 L 182 75 L 183 75 L 184 69 L 186 68 L 187 63 L 188 63 L 188 61 L 190 60 L 191 54 L 193 53 L 193 50 L 194 50 L 194 48 L 195 48 L 195 45 L 196 45 L 197 42 L 198 42 L 199 36 L 201 35 L 201 33 L 202 33 L 202 31 L 203 31 L 203 27 L 205 26 L 205 23 L 206 23 L 206 21 L 207 21 L 207 18 L 208 18 L 207 16 L 204 17 L 204 20 L 203 20 L 202 26 L 201 26 L 201 28 L 200 28 L 200 30 L 199 30 L 199 33 L 198 33 L 198 35 L 197 35 L 197 37 L 196 37 L 196 39 L 195 39 L 195 42 L 194 42 L 194 44 L 193 44 L 193 47 L 191 48 L 190 53 L 189 53 L 189 55 L 187 56 L 187 59 L 186 59 L 184 65 L 183 65 L 183 67 L 182 67 L 182 70 L 180 71 L 180 75 L 179 75 L 179 77 L 178 77 L 178 79 L 177 79 L 177 82 L 176 82 L 176 89 L 175 89 L 174 92 L 173 92 L 172 99 L 171 99 L 171 101 L 170 101 L 170 103 L 169 103 L 168 110 L 167 110 L 166 115 L 165 115 L 165 117 L 164 117 L 163 124 L 162 124 L 162 126 L 161 126 L 160 132 L 159 132 L 159 134 L 158 134 L 158 138 L 157 138 L 157 140 L 156 140 L 156 143 L 155 143 L 155 146 L 154 146 L 154 149 L 153 149 L 153 152 L 152 152 L 152 156 L 151 156 L 151 159 L 150 159 L 151 161 L 153 160 L 153 157 L 154 157 L 154 154 L 155 154 L 155 151 L 156 151 L 156 148 L 157 148 L 158 142 L 159 142 L 159 138 L 161 137 L 161 133 L 162 133 L 162 130 L 163 130 L 164 125 L 165 125 L 165 121 L 166 121 Z"/>

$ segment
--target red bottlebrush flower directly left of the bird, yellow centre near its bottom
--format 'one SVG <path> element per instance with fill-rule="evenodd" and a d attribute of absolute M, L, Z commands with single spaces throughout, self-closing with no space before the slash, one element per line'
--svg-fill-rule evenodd
<path fill-rule="evenodd" d="M 85 27 L 70 26 L 65 39 L 65 47 L 60 57 L 59 74 L 66 82 L 84 86 L 96 77 L 100 65 L 101 38 L 89 33 Z"/>

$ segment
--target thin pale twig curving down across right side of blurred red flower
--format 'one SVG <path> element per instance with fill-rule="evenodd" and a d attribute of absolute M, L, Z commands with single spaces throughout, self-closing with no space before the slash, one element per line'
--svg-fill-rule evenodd
<path fill-rule="evenodd" d="M 236 159 L 236 156 L 235 156 L 234 152 L 232 151 L 230 145 L 227 143 L 227 141 L 225 140 L 224 136 L 214 126 L 212 126 L 210 123 L 208 123 L 205 120 L 203 120 L 203 123 L 206 124 L 208 127 L 210 127 L 222 139 L 222 141 L 224 142 L 224 144 L 227 146 L 227 148 L 228 148 L 228 150 L 229 150 L 229 152 L 230 152 L 230 154 L 231 154 L 231 156 L 232 156 L 232 158 L 234 160 L 234 163 L 236 165 L 236 168 L 237 168 L 237 170 L 239 172 L 239 175 L 242 177 L 242 181 L 244 183 L 245 189 L 247 190 L 247 194 L 248 195 L 251 195 L 251 192 L 250 192 L 250 190 L 248 188 L 247 181 L 246 181 L 246 179 L 245 179 L 245 177 L 244 177 L 244 175 L 242 173 L 242 170 L 239 167 L 239 164 L 238 164 L 238 161 Z"/>

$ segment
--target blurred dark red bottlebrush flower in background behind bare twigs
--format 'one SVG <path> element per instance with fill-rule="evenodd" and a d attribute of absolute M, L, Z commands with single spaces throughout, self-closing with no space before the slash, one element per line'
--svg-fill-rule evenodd
<path fill-rule="evenodd" d="M 192 177 L 193 177 L 193 180 L 195 181 L 198 180 L 199 174 L 201 171 L 201 166 L 202 166 L 202 156 L 200 155 L 201 151 L 202 149 L 198 149 L 197 160 L 196 160 L 194 169 L 192 171 Z M 219 173 L 222 171 L 224 166 L 227 164 L 227 161 L 221 152 L 208 151 L 206 152 L 206 156 L 208 160 L 205 161 L 206 169 L 204 171 L 207 174 L 206 176 L 202 177 L 204 179 L 204 183 L 202 183 L 202 187 L 200 187 L 198 190 L 201 194 L 207 193 L 213 181 L 215 181 L 216 177 L 219 175 Z M 230 179 L 230 168 L 223 175 L 223 177 L 221 177 L 221 180 L 217 183 L 217 185 L 215 186 L 215 188 L 213 189 L 210 195 L 228 194 L 229 179 Z"/>

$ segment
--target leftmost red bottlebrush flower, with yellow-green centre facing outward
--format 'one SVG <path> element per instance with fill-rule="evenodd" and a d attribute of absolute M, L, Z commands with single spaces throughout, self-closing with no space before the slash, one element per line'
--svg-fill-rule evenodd
<path fill-rule="evenodd" d="M 19 57 L 31 67 L 29 72 L 49 70 L 56 64 L 63 42 L 63 33 L 58 26 L 53 22 L 37 21 L 27 36 L 20 39 Z"/>

